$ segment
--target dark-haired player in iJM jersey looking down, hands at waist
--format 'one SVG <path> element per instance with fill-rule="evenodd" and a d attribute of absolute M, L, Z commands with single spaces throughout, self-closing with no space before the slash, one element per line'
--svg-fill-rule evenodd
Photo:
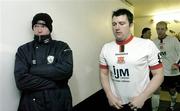
<path fill-rule="evenodd" d="M 150 97 L 163 81 L 158 48 L 151 40 L 134 37 L 132 25 L 129 10 L 114 11 L 115 40 L 106 43 L 100 53 L 100 80 L 111 111 L 152 111 Z"/>

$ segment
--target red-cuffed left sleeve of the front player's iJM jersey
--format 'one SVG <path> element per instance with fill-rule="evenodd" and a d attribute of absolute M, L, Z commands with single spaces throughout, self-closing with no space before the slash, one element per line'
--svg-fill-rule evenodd
<path fill-rule="evenodd" d="M 101 53 L 100 53 L 100 56 L 99 56 L 99 67 L 101 69 L 108 69 L 107 61 L 106 61 L 106 58 L 105 58 L 105 52 L 106 52 L 106 48 L 105 48 L 105 45 L 104 45 L 102 47 L 102 49 L 101 49 Z"/>

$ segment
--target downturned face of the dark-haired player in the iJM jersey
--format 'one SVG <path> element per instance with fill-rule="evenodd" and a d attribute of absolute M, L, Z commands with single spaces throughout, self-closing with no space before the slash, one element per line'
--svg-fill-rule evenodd
<path fill-rule="evenodd" d="M 122 41 L 130 34 L 130 24 L 126 15 L 112 18 L 112 29 L 116 40 Z"/>

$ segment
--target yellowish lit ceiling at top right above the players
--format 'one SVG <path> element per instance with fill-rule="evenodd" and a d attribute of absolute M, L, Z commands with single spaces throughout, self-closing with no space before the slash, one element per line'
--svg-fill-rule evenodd
<path fill-rule="evenodd" d="M 180 12 L 180 0 L 122 0 L 134 7 L 135 17 Z"/>

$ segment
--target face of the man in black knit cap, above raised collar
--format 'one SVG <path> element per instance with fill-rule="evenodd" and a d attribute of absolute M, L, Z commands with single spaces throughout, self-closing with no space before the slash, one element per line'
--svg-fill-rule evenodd
<path fill-rule="evenodd" d="M 35 24 L 33 26 L 33 31 L 34 31 L 34 34 L 38 36 L 50 34 L 49 29 L 45 25 L 42 25 L 42 24 Z"/>

